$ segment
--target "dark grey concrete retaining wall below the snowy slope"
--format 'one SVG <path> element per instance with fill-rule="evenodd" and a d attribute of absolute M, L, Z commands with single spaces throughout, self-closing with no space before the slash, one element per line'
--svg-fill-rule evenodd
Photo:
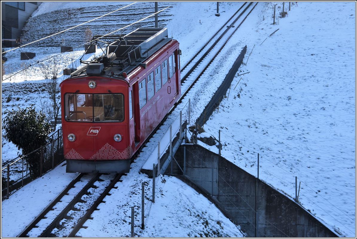
<path fill-rule="evenodd" d="M 248 237 L 338 237 L 299 204 L 202 146 L 182 145 L 175 158 L 188 179 L 211 195 L 210 200 Z M 172 169 L 172 173 L 182 174 L 175 162 Z M 171 173 L 171 167 L 166 173 Z"/>

